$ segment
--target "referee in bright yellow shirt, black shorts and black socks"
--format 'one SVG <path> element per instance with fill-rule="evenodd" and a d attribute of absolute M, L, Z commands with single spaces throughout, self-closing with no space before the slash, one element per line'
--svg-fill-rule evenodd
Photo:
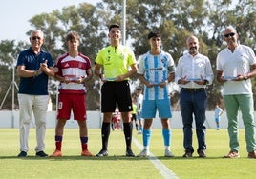
<path fill-rule="evenodd" d="M 95 74 L 103 82 L 101 88 L 102 149 L 96 156 L 108 156 L 111 117 L 117 106 L 123 121 L 126 156 L 133 157 L 135 156 L 131 149 L 133 125 L 129 116 L 133 109 L 128 81 L 131 75 L 137 73 L 137 61 L 130 48 L 120 45 L 121 30 L 119 25 L 112 24 L 109 27 L 108 37 L 110 46 L 99 50 L 96 56 Z"/>

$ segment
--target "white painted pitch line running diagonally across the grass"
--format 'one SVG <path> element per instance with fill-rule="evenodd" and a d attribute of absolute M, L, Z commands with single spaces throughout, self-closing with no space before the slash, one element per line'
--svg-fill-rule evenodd
<path fill-rule="evenodd" d="M 139 149 L 143 149 L 143 146 L 139 143 L 139 141 L 133 137 L 133 142 L 136 144 L 136 146 Z M 169 168 L 167 168 L 164 164 L 160 162 L 160 160 L 155 157 L 152 153 L 150 153 L 150 157 L 148 157 L 150 162 L 155 166 L 156 169 L 160 171 L 160 174 L 163 176 L 163 178 L 168 179 L 178 179 L 179 177 Z"/>

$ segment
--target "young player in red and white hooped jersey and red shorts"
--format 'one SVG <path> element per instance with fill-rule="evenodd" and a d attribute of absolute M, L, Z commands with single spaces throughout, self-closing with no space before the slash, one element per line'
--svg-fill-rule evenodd
<path fill-rule="evenodd" d="M 70 119 L 73 109 L 74 119 L 79 125 L 82 152 L 81 156 L 93 156 L 88 150 L 86 125 L 86 83 L 93 77 L 90 59 L 78 52 L 80 37 L 75 31 L 66 36 L 69 51 L 57 58 L 55 78 L 59 80 L 59 99 L 57 125 L 55 129 L 56 149 L 52 157 L 62 156 L 61 145 L 66 121 Z"/>

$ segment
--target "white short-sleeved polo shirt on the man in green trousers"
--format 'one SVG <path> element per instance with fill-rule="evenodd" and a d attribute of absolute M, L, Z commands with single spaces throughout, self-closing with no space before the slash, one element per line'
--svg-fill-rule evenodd
<path fill-rule="evenodd" d="M 233 52 L 225 48 L 217 55 L 217 70 L 223 71 L 224 76 L 246 75 L 253 64 L 256 64 L 255 53 L 245 45 L 239 45 Z M 252 94 L 250 79 L 226 81 L 224 95 L 233 94 Z"/>

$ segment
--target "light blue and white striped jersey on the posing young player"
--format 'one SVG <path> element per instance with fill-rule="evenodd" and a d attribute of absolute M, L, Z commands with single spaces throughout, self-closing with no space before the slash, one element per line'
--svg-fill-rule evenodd
<path fill-rule="evenodd" d="M 143 74 L 144 78 L 152 84 L 160 84 L 167 80 L 169 73 L 175 71 L 174 60 L 172 56 L 161 51 L 160 55 L 152 55 L 149 51 L 139 58 L 139 74 Z M 169 91 L 167 86 L 161 88 L 155 86 L 153 88 L 144 88 L 143 100 L 169 99 Z"/>

